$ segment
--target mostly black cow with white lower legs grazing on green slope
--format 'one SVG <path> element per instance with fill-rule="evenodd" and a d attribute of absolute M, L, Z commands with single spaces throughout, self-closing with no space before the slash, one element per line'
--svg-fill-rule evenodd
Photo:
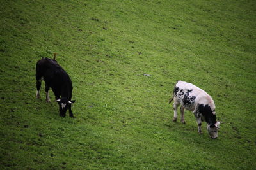
<path fill-rule="evenodd" d="M 74 117 L 71 110 L 71 105 L 75 102 L 71 100 L 72 81 L 66 71 L 56 62 L 55 57 L 56 53 L 54 53 L 54 59 L 45 57 L 36 63 L 36 98 L 40 98 L 39 90 L 41 82 L 44 80 L 46 101 L 50 102 L 48 91 L 51 87 L 59 104 L 60 116 L 65 117 L 68 109 L 69 116 Z"/>

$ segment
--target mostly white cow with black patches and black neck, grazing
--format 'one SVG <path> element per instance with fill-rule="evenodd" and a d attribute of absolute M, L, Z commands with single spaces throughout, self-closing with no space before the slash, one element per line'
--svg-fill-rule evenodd
<path fill-rule="evenodd" d="M 220 123 L 216 121 L 215 104 L 212 97 L 204 90 L 191 83 L 178 81 L 173 90 L 173 97 L 169 103 L 174 101 L 173 121 L 177 121 L 177 108 L 180 106 L 181 122 L 185 124 L 184 109 L 193 111 L 198 124 L 198 133 L 202 134 L 202 121 L 207 123 L 207 131 L 212 139 L 218 137 Z"/>

